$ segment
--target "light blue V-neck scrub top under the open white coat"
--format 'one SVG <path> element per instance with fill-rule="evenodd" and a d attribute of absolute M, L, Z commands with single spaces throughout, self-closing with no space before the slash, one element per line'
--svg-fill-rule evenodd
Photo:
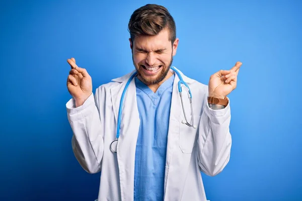
<path fill-rule="evenodd" d="M 164 200 L 164 179 L 175 74 L 154 93 L 135 77 L 140 126 L 134 167 L 134 201 Z"/>

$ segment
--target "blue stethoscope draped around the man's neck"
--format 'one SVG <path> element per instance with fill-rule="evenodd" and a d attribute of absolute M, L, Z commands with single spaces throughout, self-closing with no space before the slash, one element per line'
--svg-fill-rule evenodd
<path fill-rule="evenodd" d="M 192 93 L 191 93 L 191 90 L 188 86 L 188 84 L 183 80 L 181 74 L 178 72 L 178 70 L 175 69 L 175 67 L 171 67 L 172 70 L 174 70 L 174 72 L 177 74 L 178 78 L 179 78 L 179 82 L 178 82 L 178 91 L 179 91 L 179 95 L 180 95 L 180 99 L 181 99 L 181 105 L 182 105 L 182 109 L 183 109 L 183 112 L 184 112 L 184 116 L 185 116 L 185 121 L 182 121 L 183 124 L 186 124 L 187 126 L 189 127 L 193 127 L 196 129 L 196 127 L 194 126 L 194 118 L 193 118 L 193 106 L 192 106 Z M 110 150 L 112 153 L 117 153 L 117 151 L 114 151 L 112 149 L 112 144 L 114 142 L 116 142 L 116 147 L 117 147 L 117 143 L 118 143 L 118 138 L 119 138 L 119 134 L 120 134 L 120 127 L 121 127 L 121 115 L 122 115 L 122 107 L 123 107 L 123 100 L 124 100 L 124 96 L 125 96 L 125 93 L 126 93 L 126 90 L 131 82 L 131 80 L 133 79 L 133 77 L 135 77 L 137 73 L 134 72 L 130 78 L 128 79 L 127 83 L 126 83 L 126 86 L 123 90 L 123 93 L 122 93 L 122 97 L 121 97 L 121 100 L 120 100 L 120 106 L 119 106 L 119 109 L 118 109 L 118 119 L 117 119 L 117 129 L 116 129 L 116 139 L 113 140 L 110 144 Z M 183 84 L 183 85 L 182 85 Z M 187 87 L 187 93 L 188 93 L 188 98 L 189 98 L 189 101 L 190 101 L 190 108 L 191 108 L 191 122 L 189 123 L 188 122 L 188 119 L 187 119 L 187 116 L 186 116 L 186 112 L 185 112 L 185 108 L 184 108 L 184 103 L 183 103 L 183 97 L 182 97 L 182 87 L 185 86 Z"/>

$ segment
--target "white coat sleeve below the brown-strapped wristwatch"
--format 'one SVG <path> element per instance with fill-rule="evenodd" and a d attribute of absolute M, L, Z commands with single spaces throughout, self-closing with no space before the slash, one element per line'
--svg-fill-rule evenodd
<path fill-rule="evenodd" d="M 202 172 L 215 176 L 230 160 L 232 146 L 230 99 L 228 106 L 220 110 L 209 108 L 207 94 L 203 103 L 197 140 L 198 164 Z"/>

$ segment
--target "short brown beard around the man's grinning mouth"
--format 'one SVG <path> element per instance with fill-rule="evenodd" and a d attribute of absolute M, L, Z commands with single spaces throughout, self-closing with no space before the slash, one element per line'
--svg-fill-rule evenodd
<path fill-rule="evenodd" d="M 170 60 L 169 64 L 167 66 L 165 64 L 161 65 L 162 69 L 156 77 L 145 76 L 145 74 L 142 72 L 143 67 L 141 65 L 136 65 L 134 63 L 133 54 L 132 54 L 132 62 L 136 69 L 137 76 L 140 78 L 140 81 L 142 81 L 146 85 L 158 84 L 165 79 L 168 72 L 170 71 L 170 67 L 173 62 L 173 52 L 171 54 L 171 60 Z"/>

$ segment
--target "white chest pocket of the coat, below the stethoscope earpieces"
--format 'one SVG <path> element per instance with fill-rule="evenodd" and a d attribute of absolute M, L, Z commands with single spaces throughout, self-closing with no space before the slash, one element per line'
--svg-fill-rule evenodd
<path fill-rule="evenodd" d="M 193 147 L 196 144 L 199 121 L 200 116 L 194 116 L 194 125 L 196 128 L 189 127 L 183 124 L 182 121 L 179 122 L 179 148 L 183 153 L 192 153 Z"/>

